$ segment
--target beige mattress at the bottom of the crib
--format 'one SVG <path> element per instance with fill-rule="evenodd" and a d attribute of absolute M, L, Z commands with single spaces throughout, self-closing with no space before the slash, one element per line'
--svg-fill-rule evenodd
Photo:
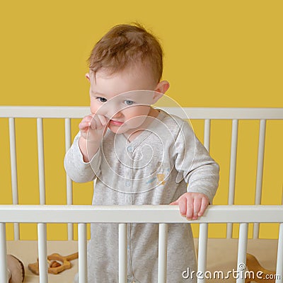
<path fill-rule="evenodd" d="M 197 239 L 195 239 L 197 249 Z M 76 253 L 77 241 L 47 241 L 47 254 L 59 253 L 69 255 Z M 207 270 L 222 271 L 224 275 L 229 270 L 236 270 L 237 239 L 209 238 L 207 248 Z M 15 255 L 25 265 L 26 283 L 39 282 L 39 277 L 28 270 L 28 264 L 37 260 L 37 241 L 8 241 L 7 252 Z M 277 240 L 248 240 L 248 253 L 255 255 L 260 264 L 267 270 L 275 270 L 277 257 Z M 78 270 L 78 260 L 71 261 L 73 267 L 59 275 L 48 275 L 49 283 L 71 283 Z M 207 279 L 207 282 L 236 282 L 231 275 L 229 279 Z M 150 282 L 149 282 L 150 283 Z M 152 282 L 154 283 L 154 282 Z M 172 282 L 170 282 L 172 283 Z"/>

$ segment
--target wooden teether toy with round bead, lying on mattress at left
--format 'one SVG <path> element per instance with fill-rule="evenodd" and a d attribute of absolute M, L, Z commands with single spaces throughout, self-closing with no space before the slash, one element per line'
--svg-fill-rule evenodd
<path fill-rule="evenodd" d="M 48 255 L 48 273 L 56 275 L 64 270 L 69 270 L 71 268 L 70 260 L 75 260 L 76 258 L 79 258 L 79 253 L 72 253 L 67 256 L 59 255 L 59 253 Z M 36 275 L 40 274 L 38 258 L 37 262 L 28 265 L 28 269 Z"/>

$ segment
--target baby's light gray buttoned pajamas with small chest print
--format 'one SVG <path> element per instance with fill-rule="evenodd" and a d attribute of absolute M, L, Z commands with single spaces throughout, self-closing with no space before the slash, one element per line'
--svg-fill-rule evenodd
<path fill-rule="evenodd" d="M 108 129 L 90 163 L 83 162 L 79 137 L 67 152 L 64 166 L 75 182 L 97 178 L 93 205 L 170 204 L 187 191 L 202 192 L 212 203 L 219 166 L 179 117 L 161 111 L 131 142 Z M 196 270 L 190 224 L 168 224 L 167 282 L 196 282 L 195 277 L 182 277 L 187 267 Z M 156 283 L 157 269 L 158 224 L 129 224 L 129 282 Z M 91 224 L 88 282 L 118 282 L 117 224 Z"/>

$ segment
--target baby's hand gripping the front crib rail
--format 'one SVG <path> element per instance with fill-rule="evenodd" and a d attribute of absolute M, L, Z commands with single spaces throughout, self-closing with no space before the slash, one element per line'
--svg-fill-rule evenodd
<path fill-rule="evenodd" d="M 204 214 L 208 204 L 208 197 L 200 192 L 185 192 L 178 200 L 171 202 L 171 205 L 179 205 L 180 214 L 186 216 L 187 220 L 197 220 Z"/>

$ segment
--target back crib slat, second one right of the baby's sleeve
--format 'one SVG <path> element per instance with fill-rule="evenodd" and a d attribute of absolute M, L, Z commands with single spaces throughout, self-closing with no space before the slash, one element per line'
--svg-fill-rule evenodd
<path fill-rule="evenodd" d="M 238 120 L 234 119 L 232 120 L 232 133 L 231 133 L 231 156 L 230 156 L 228 204 L 234 204 L 234 198 L 235 198 L 237 144 L 238 144 Z M 227 223 L 226 238 L 232 238 L 232 231 L 233 231 L 233 224 Z"/>

